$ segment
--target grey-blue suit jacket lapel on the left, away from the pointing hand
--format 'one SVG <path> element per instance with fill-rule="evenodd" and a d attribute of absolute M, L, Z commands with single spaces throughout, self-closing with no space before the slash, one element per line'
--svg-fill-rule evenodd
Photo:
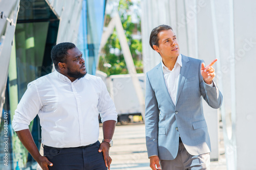
<path fill-rule="evenodd" d="M 159 81 L 158 81 L 159 82 L 159 87 L 160 87 L 160 89 L 163 90 L 163 92 L 164 92 L 166 98 L 168 99 L 168 101 L 170 102 L 170 104 L 175 108 L 173 100 L 172 100 L 172 98 L 170 98 L 170 94 L 169 94 L 169 92 L 167 90 L 167 87 L 165 85 L 164 76 L 163 76 L 163 69 L 162 69 L 162 64 L 161 63 L 159 64 L 159 67 L 157 67 L 157 69 L 158 69 L 157 76 L 158 76 L 158 79 L 159 79 Z"/>

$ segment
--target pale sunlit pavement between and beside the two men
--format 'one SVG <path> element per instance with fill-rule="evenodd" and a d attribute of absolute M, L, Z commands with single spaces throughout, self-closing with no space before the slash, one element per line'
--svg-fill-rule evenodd
<path fill-rule="evenodd" d="M 219 161 L 211 161 L 211 170 L 226 170 L 226 159 L 224 155 L 224 143 L 220 134 L 220 158 Z M 100 127 L 99 141 L 103 134 Z M 150 161 L 147 158 L 145 125 L 142 123 L 131 123 L 129 125 L 117 124 L 113 137 L 114 145 L 110 149 L 113 159 L 111 169 L 115 170 L 151 170 Z"/>

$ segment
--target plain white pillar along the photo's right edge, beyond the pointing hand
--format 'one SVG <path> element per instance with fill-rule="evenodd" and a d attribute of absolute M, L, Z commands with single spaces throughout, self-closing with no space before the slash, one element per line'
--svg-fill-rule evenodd
<path fill-rule="evenodd" d="M 255 169 L 256 161 L 256 111 L 255 111 L 255 63 L 256 63 L 256 1 L 233 0 L 234 27 L 234 72 L 231 78 L 235 83 L 232 93 L 235 99 L 231 106 L 234 108 L 236 119 L 233 119 L 234 138 L 237 151 L 236 169 Z M 243 11 L 243 12 L 241 12 Z M 231 84 L 233 86 L 233 84 Z M 232 111 L 233 111 L 232 110 Z M 230 168 L 231 169 L 231 168 Z"/>

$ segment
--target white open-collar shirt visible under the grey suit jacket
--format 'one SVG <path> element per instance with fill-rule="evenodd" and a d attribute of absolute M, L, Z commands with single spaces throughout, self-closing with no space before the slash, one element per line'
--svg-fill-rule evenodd
<path fill-rule="evenodd" d="M 169 92 L 170 98 L 172 98 L 174 105 L 176 105 L 176 96 L 177 96 L 178 83 L 180 78 L 180 68 L 182 67 L 181 57 L 182 56 L 180 54 L 177 58 L 177 61 L 174 65 L 173 70 L 169 70 L 163 64 L 163 60 L 162 60 L 162 69 L 163 69 L 165 85 Z"/>

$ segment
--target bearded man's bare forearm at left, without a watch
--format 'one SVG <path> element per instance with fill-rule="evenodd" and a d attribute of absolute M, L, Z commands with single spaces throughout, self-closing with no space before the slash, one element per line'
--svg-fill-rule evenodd
<path fill-rule="evenodd" d="M 22 144 L 24 145 L 24 147 L 29 151 L 29 153 L 31 154 L 31 156 L 37 161 L 39 162 L 39 157 L 41 156 L 36 145 L 35 142 L 33 140 L 33 137 L 30 133 L 29 129 L 24 129 L 21 131 L 16 131 L 19 140 L 22 142 Z"/>

